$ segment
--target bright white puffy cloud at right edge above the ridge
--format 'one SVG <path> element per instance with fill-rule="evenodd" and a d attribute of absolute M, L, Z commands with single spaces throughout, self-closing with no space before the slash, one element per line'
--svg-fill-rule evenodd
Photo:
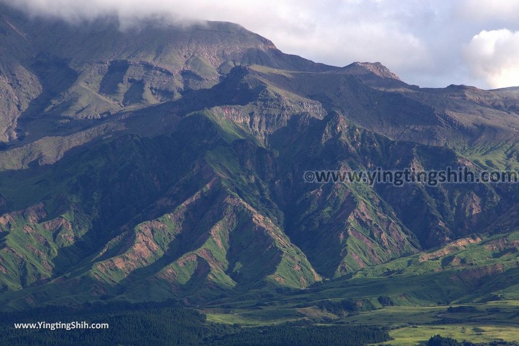
<path fill-rule="evenodd" d="M 472 37 L 465 55 L 474 76 L 491 87 L 519 84 L 519 31 L 483 30 Z"/>

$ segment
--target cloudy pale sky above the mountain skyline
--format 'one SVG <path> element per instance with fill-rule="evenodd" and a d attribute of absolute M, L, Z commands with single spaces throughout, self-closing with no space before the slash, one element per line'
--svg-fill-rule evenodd
<path fill-rule="evenodd" d="M 3 0 L 6 1 L 6 0 Z M 519 85 L 519 0 L 9 0 L 71 22 L 169 14 L 241 24 L 283 52 L 335 66 L 380 62 L 423 87 Z"/>

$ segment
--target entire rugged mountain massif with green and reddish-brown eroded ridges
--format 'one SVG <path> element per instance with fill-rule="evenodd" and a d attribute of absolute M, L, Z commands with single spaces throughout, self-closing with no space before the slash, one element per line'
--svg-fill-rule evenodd
<path fill-rule="evenodd" d="M 513 296 L 514 184 L 309 184 L 303 174 L 517 169 L 517 88 L 420 88 L 380 63 L 284 54 L 231 23 L 121 31 L 114 18 L 0 11 L 6 310 L 343 294 L 359 278 L 408 288 L 417 275 L 445 280 L 445 268 L 459 283 L 447 303 Z M 472 287 L 494 275 L 510 282 Z M 416 287 L 386 295 L 440 300 Z M 381 295 L 364 303 L 379 307 Z"/>

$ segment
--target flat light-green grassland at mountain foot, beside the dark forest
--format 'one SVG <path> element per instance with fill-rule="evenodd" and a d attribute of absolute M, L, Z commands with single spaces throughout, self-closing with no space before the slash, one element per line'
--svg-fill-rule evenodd
<path fill-rule="evenodd" d="M 450 309 L 449 309 L 450 308 Z M 450 310 L 450 311 L 449 311 Z M 519 300 L 448 306 L 391 306 L 347 316 L 313 308 L 203 309 L 210 322 L 261 326 L 308 319 L 389 329 L 391 344 L 416 345 L 440 334 L 471 342 L 519 340 Z M 387 343 L 386 343 L 387 344 Z"/>

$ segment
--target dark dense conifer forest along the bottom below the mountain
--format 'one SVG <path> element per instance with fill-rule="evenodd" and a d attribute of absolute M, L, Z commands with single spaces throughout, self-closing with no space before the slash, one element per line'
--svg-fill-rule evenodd
<path fill-rule="evenodd" d="M 15 329 L 15 323 L 108 323 L 109 329 Z M 361 325 L 311 322 L 241 327 L 209 323 L 202 313 L 173 301 L 147 304 L 114 302 L 76 308 L 47 307 L 0 316 L 0 345 L 343 345 L 388 341 L 386 330 Z"/>

